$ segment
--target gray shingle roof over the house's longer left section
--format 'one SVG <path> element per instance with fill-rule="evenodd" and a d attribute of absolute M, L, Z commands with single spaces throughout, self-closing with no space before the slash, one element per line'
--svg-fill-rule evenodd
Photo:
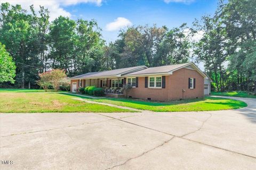
<path fill-rule="evenodd" d="M 145 67 L 145 69 L 147 68 L 146 66 L 134 66 L 134 67 L 127 67 L 127 68 L 123 68 L 123 69 L 115 69 L 115 70 L 109 70 L 109 71 L 101 71 L 101 72 L 91 72 L 91 73 L 86 73 L 86 74 L 82 74 L 82 75 L 77 75 L 75 77 L 72 77 L 70 79 L 79 79 L 79 78 L 94 78 L 94 77 L 107 77 L 107 76 L 117 76 L 119 74 L 122 73 L 126 73 L 132 70 L 137 70 L 140 68 Z"/>

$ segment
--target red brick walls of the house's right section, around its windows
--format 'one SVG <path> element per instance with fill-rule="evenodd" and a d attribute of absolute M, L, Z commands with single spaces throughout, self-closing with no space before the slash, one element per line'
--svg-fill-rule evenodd
<path fill-rule="evenodd" d="M 196 88 L 188 89 L 188 78 L 196 79 Z M 148 80 L 149 81 L 149 80 Z M 139 77 L 138 88 L 132 88 L 129 96 L 132 98 L 158 101 L 179 100 L 182 98 L 182 89 L 185 89 L 183 99 L 202 98 L 204 96 L 204 78 L 195 70 L 180 69 L 165 77 L 165 88 L 145 88 L 145 77 Z"/>

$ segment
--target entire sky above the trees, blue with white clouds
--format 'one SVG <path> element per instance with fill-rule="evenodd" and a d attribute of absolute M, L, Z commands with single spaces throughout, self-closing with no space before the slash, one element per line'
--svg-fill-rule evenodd
<path fill-rule="evenodd" d="M 131 25 L 165 25 L 179 27 L 182 23 L 190 26 L 195 19 L 205 14 L 213 14 L 218 0 L 0 0 L 10 4 L 20 4 L 29 10 L 34 4 L 50 11 L 50 20 L 58 16 L 68 16 L 73 20 L 96 20 L 102 29 L 102 37 L 107 43 L 118 38 L 120 29 Z"/>

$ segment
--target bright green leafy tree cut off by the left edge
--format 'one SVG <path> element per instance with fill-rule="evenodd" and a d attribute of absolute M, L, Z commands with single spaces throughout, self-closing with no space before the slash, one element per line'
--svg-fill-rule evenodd
<path fill-rule="evenodd" d="M 12 57 L 6 52 L 5 46 L 0 43 L 0 82 L 14 83 L 15 69 Z"/>

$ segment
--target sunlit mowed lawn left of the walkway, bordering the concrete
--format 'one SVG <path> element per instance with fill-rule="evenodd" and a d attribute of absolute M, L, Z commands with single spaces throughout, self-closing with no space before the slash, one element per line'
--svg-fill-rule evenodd
<path fill-rule="evenodd" d="M 99 104 L 89 104 L 61 93 L 0 93 L 0 113 L 46 112 L 132 112 Z"/>

